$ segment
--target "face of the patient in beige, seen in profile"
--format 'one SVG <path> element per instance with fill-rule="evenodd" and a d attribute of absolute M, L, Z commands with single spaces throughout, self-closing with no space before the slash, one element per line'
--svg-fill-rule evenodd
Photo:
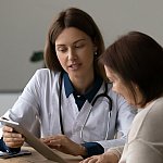
<path fill-rule="evenodd" d="M 104 65 L 104 70 L 105 70 L 105 73 L 106 73 L 106 77 L 113 84 L 113 87 L 112 87 L 113 91 L 115 91 L 118 95 L 123 96 L 129 104 L 138 106 L 135 103 L 135 99 L 134 99 L 134 96 L 133 96 L 130 89 L 128 89 L 126 87 L 126 85 L 124 84 L 123 79 L 116 73 L 114 73 L 112 70 L 110 70 L 105 65 Z M 139 90 L 138 90 L 136 85 L 133 84 L 133 86 L 134 86 L 135 91 L 136 91 L 136 98 L 137 98 L 137 100 L 139 102 L 141 100 L 141 98 L 142 98 L 141 93 L 139 92 Z"/>

